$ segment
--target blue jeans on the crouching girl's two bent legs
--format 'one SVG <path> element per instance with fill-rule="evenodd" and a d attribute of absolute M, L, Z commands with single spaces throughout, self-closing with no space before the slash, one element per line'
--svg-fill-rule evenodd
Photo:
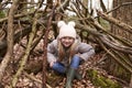
<path fill-rule="evenodd" d="M 78 66 L 79 66 L 79 63 L 80 63 L 80 58 L 75 55 L 75 56 L 72 58 L 70 67 L 77 69 Z M 59 63 L 59 62 L 56 62 L 56 63 L 53 65 L 52 68 L 53 68 L 54 70 L 61 73 L 61 74 L 65 74 L 65 73 L 66 73 L 66 67 L 65 67 L 62 63 Z"/>

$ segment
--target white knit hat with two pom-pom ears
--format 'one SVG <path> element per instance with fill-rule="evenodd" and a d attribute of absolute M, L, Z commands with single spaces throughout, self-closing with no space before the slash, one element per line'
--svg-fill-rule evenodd
<path fill-rule="evenodd" d="M 70 21 L 66 24 L 64 21 L 58 21 L 57 26 L 59 28 L 58 37 L 70 36 L 76 38 L 75 22 Z"/>

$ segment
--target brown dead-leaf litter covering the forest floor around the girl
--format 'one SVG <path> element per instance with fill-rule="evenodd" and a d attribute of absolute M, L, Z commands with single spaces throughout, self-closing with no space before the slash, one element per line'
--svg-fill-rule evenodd
<path fill-rule="evenodd" d="M 43 43 L 43 42 L 42 42 Z M 42 50 L 43 45 L 38 46 L 37 50 Z M 15 56 L 14 58 L 18 61 L 18 58 L 21 57 L 21 55 L 23 54 L 23 50 L 20 46 L 15 47 Z M 96 69 L 99 73 L 103 74 L 103 76 L 108 77 L 108 78 L 112 78 L 113 76 L 109 75 L 106 70 L 103 70 L 101 67 L 98 66 L 98 64 L 100 64 L 100 59 L 103 58 L 106 53 L 99 53 L 96 54 L 94 57 L 89 58 L 87 62 L 82 63 L 79 66 L 78 72 L 82 75 L 82 79 L 81 80 L 77 80 L 74 79 L 73 80 L 73 88 L 101 88 L 101 87 L 97 87 L 95 86 L 90 78 L 87 76 L 88 74 L 88 69 Z M 43 59 L 43 55 L 42 54 L 33 54 L 29 57 L 29 62 L 28 65 L 30 65 L 30 63 L 32 66 L 32 69 L 34 69 L 35 67 L 35 62 L 37 62 L 38 59 Z M 42 63 L 42 62 L 41 62 Z M 40 63 L 40 65 L 41 65 Z M 103 64 L 103 62 L 101 62 L 101 64 Z M 41 65 L 42 66 L 42 65 Z M 4 86 L 4 88 L 10 88 L 9 86 L 11 85 L 12 78 L 15 75 L 16 70 L 18 70 L 18 64 L 13 64 L 12 62 L 10 63 L 10 65 L 8 66 L 6 74 L 2 78 L 2 85 Z M 43 74 L 42 74 L 42 68 L 37 70 L 37 73 L 28 73 L 28 72 L 23 72 L 21 74 L 21 76 L 19 77 L 19 80 L 16 82 L 16 87 L 15 88 L 42 88 L 42 78 Z M 51 70 L 50 68 L 47 68 L 46 72 L 46 80 L 47 80 L 47 88 L 64 88 L 65 87 L 65 82 L 66 82 L 66 77 L 56 74 L 55 72 Z"/>

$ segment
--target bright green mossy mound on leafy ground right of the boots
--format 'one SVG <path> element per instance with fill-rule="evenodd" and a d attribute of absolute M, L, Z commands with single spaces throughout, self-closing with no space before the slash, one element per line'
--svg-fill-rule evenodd
<path fill-rule="evenodd" d="M 122 88 L 119 82 L 99 75 L 96 69 L 89 69 L 88 77 L 97 88 Z"/>

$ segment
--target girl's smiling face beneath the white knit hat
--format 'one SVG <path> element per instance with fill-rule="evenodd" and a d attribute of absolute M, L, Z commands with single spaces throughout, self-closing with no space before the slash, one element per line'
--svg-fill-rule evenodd
<path fill-rule="evenodd" d="M 69 37 L 69 36 L 64 36 L 64 37 L 61 38 L 61 43 L 62 43 L 65 47 L 69 47 L 74 42 L 75 42 L 75 38 Z"/>

